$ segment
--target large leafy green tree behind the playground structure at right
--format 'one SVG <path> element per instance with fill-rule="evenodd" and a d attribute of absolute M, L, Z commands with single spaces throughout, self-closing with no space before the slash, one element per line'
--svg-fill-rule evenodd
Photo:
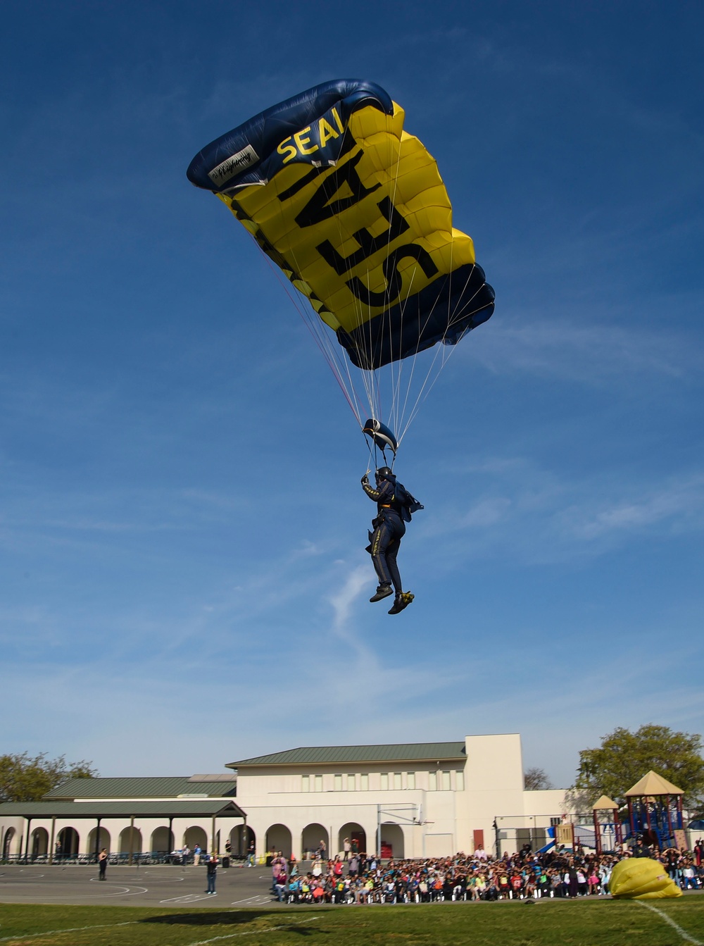
<path fill-rule="evenodd" d="M 685 805 L 696 803 L 704 790 L 704 759 L 699 735 L 675 732 L 649 723 L 635 732 L 617 727 L 604 736 L 598 749 L 579 753 L 577 778 L 571 791 L 589 799 L 602 795 L 622 805 L 631 785 L 651 769 L 674 782 L 685 794 Z"/>

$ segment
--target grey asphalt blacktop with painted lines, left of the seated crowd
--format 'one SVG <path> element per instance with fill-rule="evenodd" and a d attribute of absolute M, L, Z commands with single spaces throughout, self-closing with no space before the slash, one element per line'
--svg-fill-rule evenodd
<path fill-rule="evenodd" d="M 278 906 L 270 867 L 217 870 L 215 896 L 205 893 L 205 867 L 95 865 L 0 866 L 0 903 L 114 903 L 132 906 Z"/>

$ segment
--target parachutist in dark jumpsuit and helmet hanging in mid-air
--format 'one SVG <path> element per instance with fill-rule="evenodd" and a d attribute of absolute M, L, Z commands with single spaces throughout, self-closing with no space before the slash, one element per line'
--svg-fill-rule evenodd
<path fill-rule="evenodd" d="M 369 483 L 369 476 L 362 477 L 362 489 L 376 502 L 377 514 L 371 520 L 374 529 L 369 533 L 367 552 L 379 579 L 379 587 L 369 598 L 369 602 L 382 601 L 396 592 L 396 599 L 389 614 L 398 614 L 413 601 L 413 595 L 405 591 L 401 584 L 401 575 L 396 556 L 405 534 L 405 523 L 411 521 L 411 514 L 422 509 L 421 503 L 408 493 L 388 466 L 381 466 L 374 475 L 376 488 Z"/>

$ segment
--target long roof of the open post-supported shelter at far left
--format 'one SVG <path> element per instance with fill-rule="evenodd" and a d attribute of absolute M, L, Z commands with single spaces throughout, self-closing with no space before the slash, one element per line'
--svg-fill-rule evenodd
<path fill-rule="evenodd" d="M 114 817 L 244 817 L 233 801 L 194 798 L 191 801 L 6 801 L 0 816 L 26 818 L 114 818 Z"/>

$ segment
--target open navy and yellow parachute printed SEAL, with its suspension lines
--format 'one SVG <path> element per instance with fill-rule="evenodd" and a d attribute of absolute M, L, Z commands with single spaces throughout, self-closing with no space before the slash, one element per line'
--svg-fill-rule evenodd
<path fill-rule="evenodd" d="M 436 353 L 417 372 L 421 353 L 455 345 L 494 308 L 472 238 L 453 227 L 438 166 L 404 131 L 404 110 L 373 82 L 326 82 L 217 138 L 187 176 L 307 298 L 300 314 L 360 427 L 395 454 L 446 360 Z"/>

